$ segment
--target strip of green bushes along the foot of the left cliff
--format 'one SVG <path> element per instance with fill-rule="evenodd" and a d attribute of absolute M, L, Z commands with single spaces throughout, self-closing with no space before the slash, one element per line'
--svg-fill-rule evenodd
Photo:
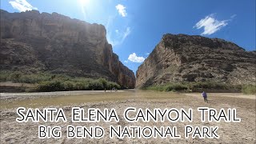
<path fill-rule="evenodd" d="M 66 91 L 66 90 L 110 90 L 121 89 L 116 82 L 105 78 L 70 77 L 65 74 L 23 74 L 22 72 L 0 71 L 1 82 L 18 82 L 37 84 L 30 91 Z"/>

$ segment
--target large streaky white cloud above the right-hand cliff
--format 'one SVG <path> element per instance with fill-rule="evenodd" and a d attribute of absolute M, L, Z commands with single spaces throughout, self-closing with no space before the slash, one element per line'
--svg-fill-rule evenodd
<path fill-rule="evenodd" d="M 210 35 L 221 30 L 222 27 L 227 25 L 228 21 L 229 20 L 218 21 L 214 18 L 214 14 L 210 14 L 206 16 L 206 18 L 202 18 L 193 28 L 201 29 L 203 27 L 204 31 L 201 35 Z"/>

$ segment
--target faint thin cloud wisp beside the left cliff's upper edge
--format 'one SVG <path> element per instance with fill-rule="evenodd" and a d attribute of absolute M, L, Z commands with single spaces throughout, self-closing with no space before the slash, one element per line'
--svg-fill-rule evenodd
<path fill-rule="evenodd" d="M 125 41 L 126 37 L 131 33 L 130 27 L 126 27 L 125 31 L 117 31 L 115 30 L 116 35 L 114 36 L 114 40 L 112 39 L 113 35 L 111 35 L 110 32 L 106 35 L 107 41 L 112 45 L 112 46 L 118 46 L 121 45 L 122 42 Z"/>

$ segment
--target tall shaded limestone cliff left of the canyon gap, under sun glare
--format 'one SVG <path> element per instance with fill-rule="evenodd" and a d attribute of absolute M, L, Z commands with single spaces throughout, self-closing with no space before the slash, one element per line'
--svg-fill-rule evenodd
<path fill-rule="evenodd" d="M 1 70 L 107 78 L 134 87 L 134 73 L 113 53 L 102 25 L 36 10 L 1 10 Z"/>

